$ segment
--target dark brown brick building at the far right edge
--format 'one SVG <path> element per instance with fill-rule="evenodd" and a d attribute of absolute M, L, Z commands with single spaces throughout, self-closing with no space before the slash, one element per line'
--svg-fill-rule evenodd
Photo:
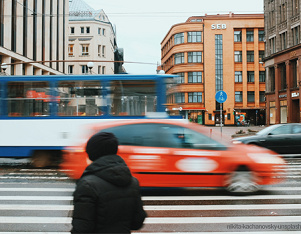
<path fill-rule="evenodd" d="M 265 0 L 267 124 L 301 121 L 300 1 Z"/>

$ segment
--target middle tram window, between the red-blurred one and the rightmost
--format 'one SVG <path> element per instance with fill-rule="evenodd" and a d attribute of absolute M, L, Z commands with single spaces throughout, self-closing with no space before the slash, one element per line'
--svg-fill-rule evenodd
<path fill-rule="evenodd" d="M 60 116 L 103 115 L 106 101 L 99 81 L 62 81 L 58 85 Z"/>

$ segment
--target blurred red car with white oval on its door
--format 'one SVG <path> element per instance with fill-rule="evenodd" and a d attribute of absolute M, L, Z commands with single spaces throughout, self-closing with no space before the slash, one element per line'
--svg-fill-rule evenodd
<path fill-rule="evenodd" d="M 80 178 L 91 163 L 85 147 L 88 138 L 97 132 L 112 132 L 117 136 L 118 155 L 142 187 L 223 187 L 232 193 L 253 193 L 260 185 L 282 181 L 279 168 L 285 162 L 275 152 L 257 146 L 221 143 L 213 139 L 208 127 L 166 119 L 123 120 L 90 126 L 81 144 L 63 151 L 61 169 L 70 177 Z"/>

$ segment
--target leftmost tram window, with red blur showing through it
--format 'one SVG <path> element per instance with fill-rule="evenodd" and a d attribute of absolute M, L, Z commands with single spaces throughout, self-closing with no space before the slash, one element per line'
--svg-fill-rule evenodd
<path fill-rule="evenodd" d="M 50 88 L 48 82 L 8 82 L 9 116 L 48 116 Z"/>

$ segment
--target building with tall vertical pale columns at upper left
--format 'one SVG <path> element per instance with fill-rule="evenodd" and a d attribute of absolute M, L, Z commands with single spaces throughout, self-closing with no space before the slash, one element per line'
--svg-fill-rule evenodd
<path fill-rule="evenodd" d="M 68 0 L 0 0 L 0 63 L 6 75 L 66 72 Z"/>

